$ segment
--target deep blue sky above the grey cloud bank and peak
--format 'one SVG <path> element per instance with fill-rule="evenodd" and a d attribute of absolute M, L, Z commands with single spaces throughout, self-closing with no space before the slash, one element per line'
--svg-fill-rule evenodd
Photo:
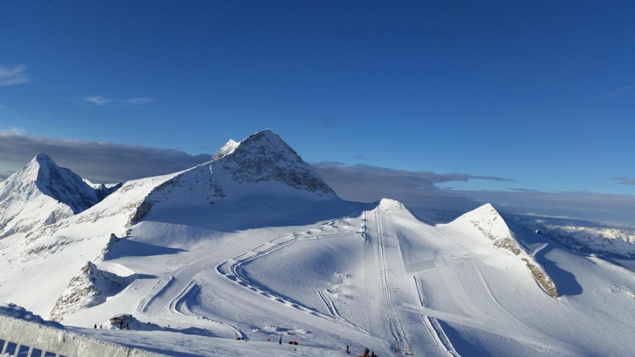
<path fill-rule="evenodd" d="M 0 130 L 635 193 L 633 1 L 4 1 L 0 66 Z"/>

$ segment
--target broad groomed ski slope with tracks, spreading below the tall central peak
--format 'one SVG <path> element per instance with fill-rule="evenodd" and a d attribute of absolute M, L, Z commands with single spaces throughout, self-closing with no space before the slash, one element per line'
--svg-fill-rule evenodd
<path fill-rule="evenodd" d="M 635 281 L 625 269 L 526 232 L 519 239 L 537 247 L 563 292 L 554 299 L 519 257 L 465 221 L 428 226 L 391 200 L 298 206 L 219 204 L 197 227 L 149 213 L 133 241 L 174 251 L 99 265 L 156 278 L 63 322 L 86 326 L 126 312 L 208 339 L 270 339 L 272 351 L 293 351 L 286 342 L 298 340 L 309 356 L 340 354 L 347 344 L 382 356 L 631 354 L 627 286 Z M 249 229 L 229 229 L 244 222 Z"/>

